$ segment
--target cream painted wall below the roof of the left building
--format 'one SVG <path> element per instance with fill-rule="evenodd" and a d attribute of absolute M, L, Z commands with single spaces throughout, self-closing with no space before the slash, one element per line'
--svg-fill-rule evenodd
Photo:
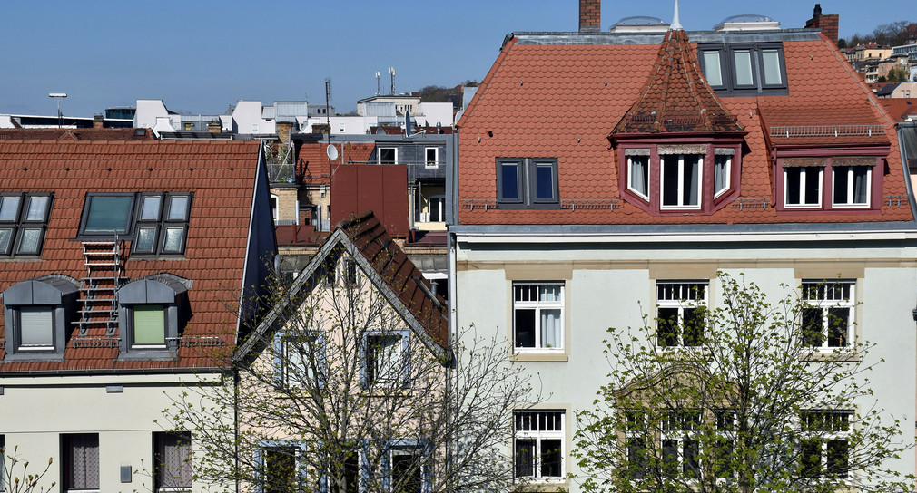
<path fill-rule="evenodd" d="M 153 434 L 166 428 L 162 410 L 182 392 L 182 381 L 218 382 L 219 375 L 47 376 L 0 378 L 0 434 L 11 452 L 32 462 L 29 472 L 43 469 L 52 458 L 48 474 L 39 484 L 51 482 L 61 490 L 61 434 L 99 434 L 99 490 L 150 491 Z M 105 386 L 124 386 L 123 393 L 107 393 Z M 165 392 L 165 393 L 164 393 Z M 157 422 L 158 421 L 158 422 Z M 193 431 L 192 431 L 193 434 Z M 192 447 L 193 435 L 192 435 Z M 121 466 L 131 466 L 130 483 L 120 481 Z M 146 470 L 145 470 L 146 469 Z M 17 469 L 15 472 L 20 472 Z M 206 485 L 195 483 L 193 491 Z"/>

